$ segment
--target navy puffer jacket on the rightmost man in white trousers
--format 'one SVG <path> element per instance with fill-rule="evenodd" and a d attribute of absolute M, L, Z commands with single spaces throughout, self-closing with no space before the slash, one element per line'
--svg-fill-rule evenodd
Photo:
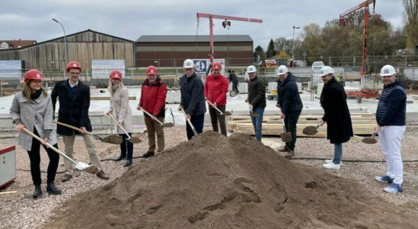
<path fill-rule="evenodd" d="M 405 126 L 406 92 L 403 84 L 395 81 L 385 85 L 379 97 L 376 121 L 379 126 Z"/>

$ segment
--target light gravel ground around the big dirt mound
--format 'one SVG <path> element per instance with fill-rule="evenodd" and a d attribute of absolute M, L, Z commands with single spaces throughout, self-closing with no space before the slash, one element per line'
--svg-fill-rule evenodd
<path fill-rule="evenodd" d="M 210 129 L 209 126 L 205 127 Z M 187 140 L 185 136 L 185 127 L 174 127 L 166 129 L 166 147 L 176 146 L 179 142 Z M 418 160 L 416 151 L 418 146 L 418 130 L 408 130 L 403 139 L 402 154 L 403 160 Z M 134 157 L 142 155 L 147 151 L 148 141 L 146 137 L 142 137 L 144 142 L 134 146 Z M 75 144 L 75 158 L 83 162 L 88 162 L 88 154 L 81 138 L 77 138 Z M 63 149 L 62 139 L 60 139 L 59 147 Z M 279 149 L 283 146 L 279 137 L 263 137 L 263 143 Z M 17 139 L 3 138 L 1 139 L 0 149 L 6 146 L 17 144 Z M 318 169 L 323 169 L 323 160 L 332 158 L 334 147 L 329 141 L 322 138 L 299 138 L 296 143 L 296 154 L 291 160 L 293 163 L 306 164 Z M 118 146 L 104 144 L 96 141 L 96 146 L 102 159 L 115 158 L 118 155 Z M 74 179 L 68 183 L 61 183 L 63 173 L 56 176 L 56 185 L 63 190 L 63 194 L 59 196 L 44 194 L 42 198 L 34 200 L 32 198 L 33 185 L 31 181 L 29 169 L 29 158 L 20 146 L 17 146 L 17 179 L 14 183 L 1 189 L 1 192 L 17 191 L 17 198 L 0 198 L 0 228 L 42 228 L 43 223 L 49 220 L 54 214 L 56 208 L 61 207 L 64 201 L 70 199 L 71 196 L 89 189 L 95 189 L 109 183 L 111 180 L 120 177 L 127 169 L 123 167 L 124 162 L 103 161 L 104 171 L 109 174 L 109 180 L 100 180 L 89 173 L 77 173 Z M 41 169 L 46 171 L 47 155 L 42 151 Z M 312 158 L 312 159 L 297 159 Z M 389 203 L 408 207 L 418 211 L 418 163 L 404 163 L 404 192 L 401 194 L 386 194 L 382 191 L 385 185 L 377 183 L 373 180 L 374 176 L 385 173 L 385 162 L 350 162 L 366 160 L 381 161 L 383 160 L 379 144 L 362 144 L 351 140 L 343 144 L 343 165 L 339 171 L 330 171 L 336 176 L 345 178 L 353 178 L 360 184 L 364 185 L 365 190 L 369 190 L 379 196 L 385 198 Z M 134 163 L 144 163 L 144 159 L 134 159 Z M 60 164 L 62 159 L 60 160 Z M 59 167 L 59 172 L 63 171 L 63 167 Z M 46 173 L 42 173 L 42 189 L 45 190 Z"/>

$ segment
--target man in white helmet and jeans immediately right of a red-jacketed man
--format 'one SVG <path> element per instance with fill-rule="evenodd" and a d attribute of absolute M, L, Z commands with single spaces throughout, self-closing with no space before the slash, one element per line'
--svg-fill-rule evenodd
<path fill-rule="evenodd" d="M 248 81 L 248 99 L 245 102 L 249 103 L 249 110 L 258 114 L 257 117 L 251 117 L 256 133 L 256 139 L 261 142 L 262 128 L 263 128 L 263 114 L 265 109 L 265 85 L 263 80 L 257 76 L 257 69 L 253 65 L 247 67 L 249 76 Z"/>

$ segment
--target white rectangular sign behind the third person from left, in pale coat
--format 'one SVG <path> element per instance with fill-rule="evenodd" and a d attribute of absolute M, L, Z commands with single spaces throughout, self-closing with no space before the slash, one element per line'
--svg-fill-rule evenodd
<path fill-rule="evenodd" d="M 109 78 L 113 70 L 121 71 L 125 78 L 125 60 L 91 60 L 91 78 Z"/>

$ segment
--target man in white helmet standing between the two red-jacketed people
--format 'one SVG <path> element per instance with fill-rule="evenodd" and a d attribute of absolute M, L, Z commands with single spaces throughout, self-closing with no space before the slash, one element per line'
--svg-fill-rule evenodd
<path fill-rule="evenodd" d="M 194 73 L 193 60 L 187 59 L 183 63 L 185 74 L 180 79 L 181 101 L 178 110 L 185 110 L 186 119 L 189 119 L 196 132 L 203 132 L 206 104 L 202 80 Z M 194 136 L 192 128 L 186 123 L 187 139 Z"/>

